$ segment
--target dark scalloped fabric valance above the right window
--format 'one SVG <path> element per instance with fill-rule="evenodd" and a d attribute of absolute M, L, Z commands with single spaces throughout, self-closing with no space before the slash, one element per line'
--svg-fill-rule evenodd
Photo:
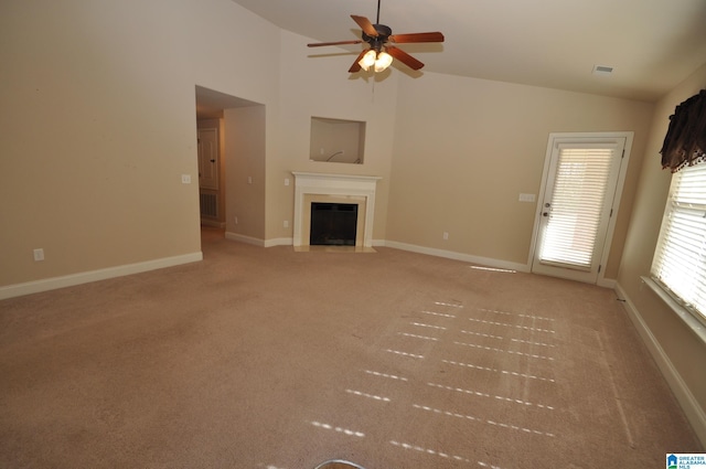
<path fill-rule="evenodd" d="M 706 89 L 676 106 L 662 145 L 662 168 L 676 172 L 706 161 Z"/>

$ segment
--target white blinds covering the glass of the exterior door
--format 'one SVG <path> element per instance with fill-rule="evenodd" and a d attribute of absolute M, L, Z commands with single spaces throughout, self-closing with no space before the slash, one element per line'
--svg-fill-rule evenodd
<path fill-rule="evenodd" d="M 590 270 L 614 146 L 560 145 L 541 262 Z"/>

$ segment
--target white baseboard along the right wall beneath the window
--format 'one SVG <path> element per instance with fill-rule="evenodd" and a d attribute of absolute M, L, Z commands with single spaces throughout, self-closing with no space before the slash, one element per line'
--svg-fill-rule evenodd
<path fill-rule="evenodd" d="M 686 383 L 684 383 L 684 380 L 674 367 L 668 355 L 664 352 L 664 349 L 662 349 L 662 345 L 660 345 L 660 342 L 657 342 L 656 338 L 644 322 L 642 316 L 640 316 L 640 312 L 620 284 L 616 285 L 616 292 L 619 298 L 624 299 L 623 305 L 625 305 L 628 317 L 634 324 L 635 329 L 638 329 L 638 332 L 648 347 L 650 354 L 656 362 L 662 375 L 674 393 L 676 401 L 682 406 L 684 414 L 686 414 L 686 418 L 692 424 L 696 436 L 700 440 L 702 445 L 706 446 L 706 413 L 698 404 Z"/>

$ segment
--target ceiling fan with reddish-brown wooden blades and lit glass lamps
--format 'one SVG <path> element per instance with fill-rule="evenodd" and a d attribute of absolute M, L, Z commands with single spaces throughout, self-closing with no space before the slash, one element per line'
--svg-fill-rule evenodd
<path fill-rule="evenodd" d="M 389 26 L 379 24 L 379 2 L 381 0 L 377 0 L 377 19 L 375 24 L 371 23 L 365 17 L 351 14 L 353 21 L 363 30 L 362 39 L 355 41 L 319 42 L 307 45 L 309 47 L 320 47 L 324 45 L 367 43 L 370 47 L 363 50 L 357 58 L 355 58 L 355 62 L 353 62 L 353 65 L 349 68 L 349 73 L 356 73 L 361 70 L 367 72 L 370 67 L 374 67 L 375 72 L 382 72 L 393 63 L 393 58 L 397 58 L 411 70 L 421 68 L 424 66 L 421 62 L 402 49 L 396 47 L 394 44 L 443 42 L 443 34 L 440 32 L 393 34 L 393 30 Z"/>

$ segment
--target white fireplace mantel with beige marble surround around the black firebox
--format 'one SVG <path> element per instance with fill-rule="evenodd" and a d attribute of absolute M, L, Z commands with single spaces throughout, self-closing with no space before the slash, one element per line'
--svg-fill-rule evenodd
<path fill-rule="evenodd" d="M 298 172 L 295 175 L 293 246 L 308 247 L 312 202 L 357 204 L 356 248 L 373 247 L 375 189 L 381 177 Z"/>

